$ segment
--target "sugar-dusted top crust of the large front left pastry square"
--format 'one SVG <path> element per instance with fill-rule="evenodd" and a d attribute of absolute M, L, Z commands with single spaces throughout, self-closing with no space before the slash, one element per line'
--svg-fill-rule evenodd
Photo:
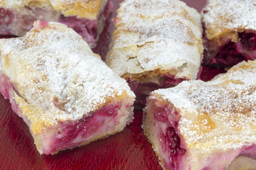
<path fill-rule="evenodd" d="M 34 23 L 23 38 L 0 40 L 0 72 L 35 133 L 89 116 L 114 98 L 134 94 L 87 42 L 61 23 Z"/>

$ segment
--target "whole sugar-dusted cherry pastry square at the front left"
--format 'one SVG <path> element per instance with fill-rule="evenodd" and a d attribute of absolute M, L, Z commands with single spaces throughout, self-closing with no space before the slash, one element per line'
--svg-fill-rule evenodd
<path fill-rule="evenodd" d="M 0 92 L 28 125 L 40 154 L 86 145 L 133 119 L 135 95 L 62 23 L 35 22 L 0 40 Z"/>

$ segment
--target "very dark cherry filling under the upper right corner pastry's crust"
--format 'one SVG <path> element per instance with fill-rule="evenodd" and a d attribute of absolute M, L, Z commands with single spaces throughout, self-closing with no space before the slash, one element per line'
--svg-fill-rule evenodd
<path fill-rule="evenodd" d="M 211 42 L 208 42 L 208 47 L 210 46 Z M 206 49 L 208 47 L 206 47 Z M 213 52 L 214 50 L 218 51 L 216 55 Z M 211 56 L 211 53 L 213 53 L 213 56 Z M 207 57 L 209 54 L 210 56 Z M 212 49 L 205 51 L 205 56 L 204 63 L 216 64 L 219 67 L 232 67 L 243 60 L 255 60 L 256 34 L 245 32 L 238 33 L 238 42 L 228 40 L 228 42 L 221 47 L 212 47 Z M 210 61 L 208 61 L 209 58 L 211 58 Z"/>

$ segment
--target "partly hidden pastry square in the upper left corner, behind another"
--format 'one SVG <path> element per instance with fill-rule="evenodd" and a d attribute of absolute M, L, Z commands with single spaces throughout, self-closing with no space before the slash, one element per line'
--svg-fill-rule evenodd
<path fill-rule="evenodd" d="M 108 0 L 1 0 L 0 35 L 23 36 L 36 20 L 54 21 L 65 23 L 95 47 L 110 8 Z"/>

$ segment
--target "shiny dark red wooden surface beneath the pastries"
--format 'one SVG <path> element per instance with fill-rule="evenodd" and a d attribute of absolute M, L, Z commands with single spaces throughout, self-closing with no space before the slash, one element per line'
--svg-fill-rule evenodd
<path fill-rule="evenodd" d="M 112 17 L 121 0 L 113 0 Z M 184 0 L 201 9 L 206 0 Z M 94 50 L 106 55 L 113 23 L 108 22 Z M 11 110 L 0 94 L 0 169 L 162 169 L 141 129 L 142 111 L 135 111 L 133 123 L 123 132 L 89 145 L 40 155 L 27 125 Z"/>

